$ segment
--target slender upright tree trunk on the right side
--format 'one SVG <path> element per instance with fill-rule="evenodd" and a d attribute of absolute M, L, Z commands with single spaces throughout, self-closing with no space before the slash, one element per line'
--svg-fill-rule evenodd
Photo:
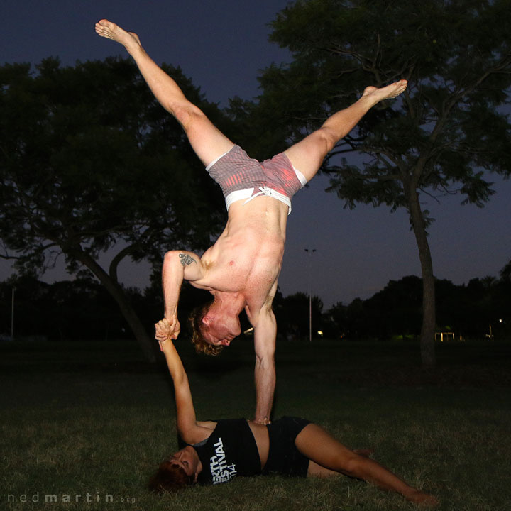
<path fill-rule="evenodd" d="M 419 248 L 422 270 L 422 328 L 420 337 L 422 368 L 432 369 L 436 366 L 434 347 L 436 329 L 435 282 L 426 226 L 419 203 L 419 195 L 415 187 L 410 187 L 408 190 L 408 203 L 410 204 L 410 217 L 417 247 Z"/>

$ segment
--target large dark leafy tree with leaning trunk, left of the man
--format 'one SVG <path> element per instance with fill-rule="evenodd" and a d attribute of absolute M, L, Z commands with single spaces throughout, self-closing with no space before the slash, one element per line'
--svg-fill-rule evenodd
<path fill-rule="evenodd" d="M 88 268 L 154 360 L 119 263 L 158 266 L 168 248 L 207 246 L 223 220 L 221 193 L 131 61 L 60 67 L 47 59 L 36 70 L 0 67 L 1 257 L 42 272 L 63 254 L 71 272 Z M 219 109 L 179 68 L 165 70 L 224 128 Z M 114 251 L 108 268 L 99 263 L 106 251 Z"/>

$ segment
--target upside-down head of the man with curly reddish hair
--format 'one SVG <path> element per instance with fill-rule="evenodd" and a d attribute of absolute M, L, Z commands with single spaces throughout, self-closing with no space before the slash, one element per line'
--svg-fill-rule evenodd
<path fill-rule="evenodd" d="M 194 309 L 190 323 L 195 351 L 205 355 L 219 355 L 241 333 L 238 316 L 226 314 L 214 301 Z"/>

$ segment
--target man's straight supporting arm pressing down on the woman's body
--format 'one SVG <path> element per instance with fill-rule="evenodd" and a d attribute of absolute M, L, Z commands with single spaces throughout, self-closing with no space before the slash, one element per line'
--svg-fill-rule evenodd
<path fill-rule="evenodd" d="M 268 424 L 275 392 L 275 339 L 277 322 L 270 306 L 264 307 L 253 323 L 255 350 L 254 422 Z"/>

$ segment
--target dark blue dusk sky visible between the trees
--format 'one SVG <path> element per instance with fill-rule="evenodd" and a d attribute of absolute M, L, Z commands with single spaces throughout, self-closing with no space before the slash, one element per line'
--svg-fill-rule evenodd
<path fill-rule="evenodd" d="M 62 65 L 74 65 L 77 60 L 126 56 L 120 45 L 94 33 L 94 23 L 108 18 L 138 33 L 156 62 L 180 65 L 209 101 L 225 106 L 235 95 L 255 97 L 260 70 L 290 60 L 286 50 L 268 43 L 267 24 L 286 4 L 286 0 L 3 0 L 0 62 L 36 64 L 57 56 Z M 439 202 L 423 197 L 424 209 L 436 219 L 429 243 L 437 278 L 463 284 L 471 278 L 496 277 L 511 259 L 511 182 L 497 175 L 488 175 L 488 180 L 495 182 L 496 194 L 483 209 L 461 206 L 460 195 Z M 330 307 L 368 298 L 389 280 L 420 276 L 406 212 L 391 214 L 386 207 L 363 205 L 344 209 L 336 195 L 324 192 L 328 184 L 328 178 L 316 177 L 293 199 L 280 276 L 282 294 L 312 290 Z M 316 251 L 309 255 L 305 248 Z M 124 263 L 119 273 L 126 285 L 148 285 L 147 265 Z M 0 261 L 0 280 L 10 274 L 10 264 Z M 70 277 L 60 269 L 48 272 L 43 280 L 65 278 Z"/>

